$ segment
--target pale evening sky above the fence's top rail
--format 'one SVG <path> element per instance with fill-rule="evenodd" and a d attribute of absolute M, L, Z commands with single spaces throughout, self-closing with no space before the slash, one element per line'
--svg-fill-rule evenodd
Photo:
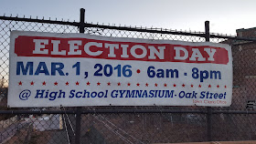
<path fill-rule="evenodd" d="M 146 26 L 236 35 L 256 27 L 255 0 L 0 0 L 0 15 L 79 21 L 116 26 Z"/>

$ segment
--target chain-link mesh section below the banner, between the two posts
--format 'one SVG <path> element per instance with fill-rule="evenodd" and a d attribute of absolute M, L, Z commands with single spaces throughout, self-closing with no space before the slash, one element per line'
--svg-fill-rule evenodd
<path fill-rule="evenodd" d="M 206 118 L 194 114 L 83 115 L 85 143 L 168 143 L 206 140 Z M 198 129 L 199 132 L 198 132 Z M 97 139 L 96 139 L 97 138 Z"/>

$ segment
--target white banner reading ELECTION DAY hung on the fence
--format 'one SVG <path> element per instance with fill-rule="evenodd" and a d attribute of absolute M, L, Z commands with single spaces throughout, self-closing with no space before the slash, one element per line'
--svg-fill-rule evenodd
<path fill-rule="evenodd" d="M 228 107 L 231 48 L 13 31 L 9 80 L 9 107 Z"/>

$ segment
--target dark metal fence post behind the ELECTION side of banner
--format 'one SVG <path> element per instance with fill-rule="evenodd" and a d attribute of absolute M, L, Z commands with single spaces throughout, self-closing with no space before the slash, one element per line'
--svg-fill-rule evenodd
<path fill-rule="evenodd" d="M 80 8 L 80 33 L 84 33 L 84 13 L 85 13 L 85 9 Z M 75 137 L 76 144 L 80 144 L 80 119 L 81 119 L 81 108 L 78 107 L 76 111 L 76 137 Z"/>

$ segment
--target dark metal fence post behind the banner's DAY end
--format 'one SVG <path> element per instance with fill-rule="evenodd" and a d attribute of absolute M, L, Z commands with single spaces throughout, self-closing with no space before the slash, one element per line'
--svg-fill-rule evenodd
<path fill-rule="evenodd" d="M 206 33 L 206 41 L 209 42 L 209 21 L 205 21 L 205 33 Z M 208 113 L 207 113 L 207 122 L 208 122 L 208 141 L 212 141 L 212 136 L 211 136 L 211 127 L 212 127 L 212 108 L 207 107 Z"/>

